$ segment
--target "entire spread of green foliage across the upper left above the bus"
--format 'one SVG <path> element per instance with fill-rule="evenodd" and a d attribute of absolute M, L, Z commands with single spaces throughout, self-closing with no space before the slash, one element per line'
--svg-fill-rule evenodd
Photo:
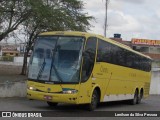
<path fill-rule="evenodd" d="M 0 1 L 0 41 L 20 25 L 31 30 L 31 37 L 51 30 L 86 31 L 93 17 L 83 12 L 83 6 L 80 0 Z"/>

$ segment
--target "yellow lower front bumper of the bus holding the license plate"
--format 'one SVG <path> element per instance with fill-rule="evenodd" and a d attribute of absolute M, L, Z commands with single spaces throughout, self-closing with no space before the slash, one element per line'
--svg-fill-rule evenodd
<path fill-rule="evenodd" d="M 45 96 L 49 96 L 51 99 L 47 99 Z M 27 98 L 57 103 L 78 104 L 77 94 L 45 93 L 27 89 Z"/>

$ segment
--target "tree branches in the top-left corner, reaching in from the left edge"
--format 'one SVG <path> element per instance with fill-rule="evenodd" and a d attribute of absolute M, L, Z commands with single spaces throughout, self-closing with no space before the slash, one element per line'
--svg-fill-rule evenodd
<path fill-rule="evenodd" d="M 0 0 L 0 41 L 29 18 L 27 0 Z"/>

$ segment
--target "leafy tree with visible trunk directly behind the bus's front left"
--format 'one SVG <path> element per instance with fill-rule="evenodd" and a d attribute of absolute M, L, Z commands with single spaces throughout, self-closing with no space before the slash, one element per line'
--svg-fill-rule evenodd
<path fill-rule="evenodd" d="M 86 31 L 93 17 L 83 13 L 83 2 L 79 0 L 29 0 L 31 17 L 24 22 L 28 36 L 21 74 L 26 74 L 27 55 L 37 35 L 44 31 Z"/>

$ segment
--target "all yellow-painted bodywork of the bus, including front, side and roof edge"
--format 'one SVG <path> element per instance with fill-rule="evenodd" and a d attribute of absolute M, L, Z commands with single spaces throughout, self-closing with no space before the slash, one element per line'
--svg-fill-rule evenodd
<path fill-rule="evenodd" d="M 69 36 L 95 36 L 97 38 L 118 45 L 129 51 L 145 56 L 141 53 L 133 51 L 125 45 L 104 38 L 100 35 L 89 34 L 84 32 L 47 32 L 41 35 L 69 35 Z M 145 56 L 149 58 L 148 56 Z M 83 62 L 82 62 L 83 63 Z M 37 99 L 42 101 L 62 102 L 72 104 L 90 103 L 93 90 L 98 87 L 101 92 L 100 101 L 103 102 L 105 95 L 134 94 L 135 89 L 144 89 L 144 97 L 149 95 L 150 72 L 144 72 L 118 65 L 95 62 L 94 69 L 90 78 L 79 84 L 44 84 L 28 80 L 27 86 L 34 87 L 38 91 L 27 89 L 27 97 L 29 99 Z M 48 88 L 50 91 L 48 93 Z M 62 88 L 70 88 L 78 90 L 75 94 L 63 94 Z M 52 100 L 45 100 L 44 95 L 52 96 Z"/>

